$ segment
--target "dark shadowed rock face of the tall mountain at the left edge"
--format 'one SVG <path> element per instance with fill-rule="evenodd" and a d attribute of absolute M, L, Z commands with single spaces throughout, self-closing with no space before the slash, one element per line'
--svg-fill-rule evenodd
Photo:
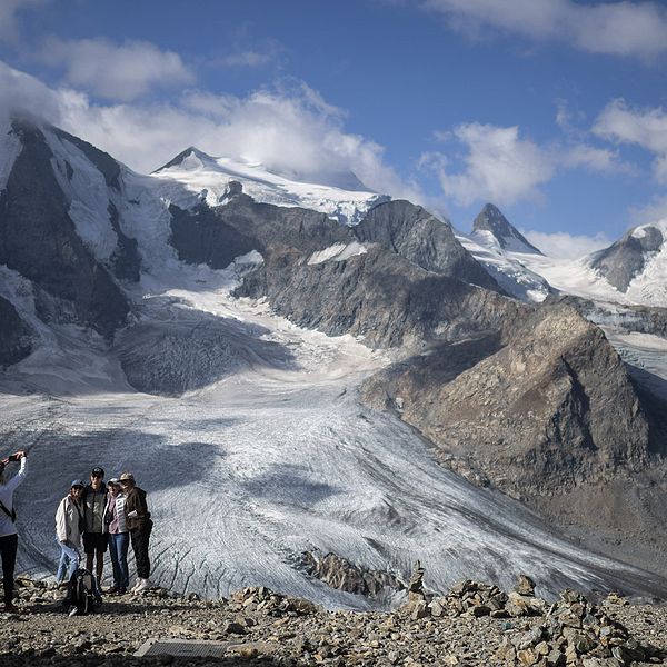
<path fill-rule="evenodd" d="M 125 323 L 128 302 L 77 235 L 42 132 L 28 123 L 14 123 L 14 131 L 23 149 L 0 195 L 0 262 L 66 310 L 71 305 L 79 323 L 111 336 Z"/>

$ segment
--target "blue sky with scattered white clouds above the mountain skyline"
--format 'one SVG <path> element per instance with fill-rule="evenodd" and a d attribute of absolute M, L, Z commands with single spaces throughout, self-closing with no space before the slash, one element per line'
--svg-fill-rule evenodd
<path fill-rule="evenodd" d="M 561 253 L 667 216 L 663 3 L 3 0 L 0 60 L 2 98 L 139 171 L 189 145 L 351 169 Z"/>

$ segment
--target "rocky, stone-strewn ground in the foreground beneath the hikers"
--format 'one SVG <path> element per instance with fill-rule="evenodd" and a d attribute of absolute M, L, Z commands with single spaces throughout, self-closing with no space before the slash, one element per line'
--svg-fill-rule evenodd
<path fill-rule="evenodd" d="M 667 664 L 667 607 L 610 595 L 599 605 L 566 590 L 548 604 L 521 577 L 509 594 L 462 581 L 427 595 L 421 571 L 408 601 L 388 613 L 327 611 L 307 600 L 246 588 L 200 600 L 163 589 L 107 596 L 68 616 L 63 591 L 19 579 L 19 613 L 0 614 L 0 666 L 145 665 L 581 665 Z M 225 657 L 136 657 L 150 638 L 226 645 Z"/>

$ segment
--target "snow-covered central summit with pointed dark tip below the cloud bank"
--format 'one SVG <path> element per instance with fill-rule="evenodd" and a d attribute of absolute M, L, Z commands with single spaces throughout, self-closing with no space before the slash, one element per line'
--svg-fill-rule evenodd
<path fill-rule="evenodd" d="M 329 175 L 317 182 L 279 173 L 258 161 L 211 157 L 195 147 L 180 152 L 153 177 L 165 183 L 163 198 L 182 208 L 195 201 L 187 192 L 203 193 L 209 206 L 218 206 L 229 191 L 230 181 L 237 181 L 256 201 L 313 209 L 350 226 L 357 225 L 374 206 L 389 200 L 388 196 L 370 191 L 351 172 Z M 178 187 L 170 187 L 175 182 Z"/>

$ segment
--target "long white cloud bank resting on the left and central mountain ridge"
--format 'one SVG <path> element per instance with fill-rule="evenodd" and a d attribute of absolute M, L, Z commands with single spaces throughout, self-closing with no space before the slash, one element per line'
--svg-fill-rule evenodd
<path fill-rule="evenodd" d="M 178 103 L 104 106 L 72 89 L 49 89 L 0 63 L 2 99 L 43 110 L 51 122 L 141 172 L 196 146 L 321 182 L 352 171 L 374 190 L 426 203 L 417 186 L 385 163 L 381 146 L 346 132 L 345 113 L 305 84 L 242 98 L 187 92 Z"/>

